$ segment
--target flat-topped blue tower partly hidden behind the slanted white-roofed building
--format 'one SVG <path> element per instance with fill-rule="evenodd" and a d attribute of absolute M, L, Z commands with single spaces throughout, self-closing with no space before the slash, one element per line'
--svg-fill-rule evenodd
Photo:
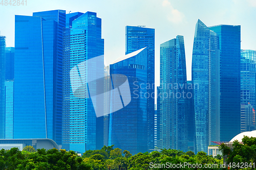
<path fill-rule="evenodd" d="M 126 26 L 125 54 L 147 47 L 147 83 L 150 85 L 148 93 L 155 92 L 155 29 L 145 26 Z M 147 135 L 148 149 L 154 149 L 154 98 L 147 99 Z"/>

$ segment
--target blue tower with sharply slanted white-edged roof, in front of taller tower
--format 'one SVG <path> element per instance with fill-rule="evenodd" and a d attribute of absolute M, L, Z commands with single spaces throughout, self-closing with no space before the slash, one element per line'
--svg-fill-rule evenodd
<path fill-rule="evenodd" d="M 150 95 L 146 89 L 146 48 L 118 58 L 110 64 L 110 75 L 118 74 L 126 76 L 129 81 L 131 102 L 109 115 L 109 145 L 114 144 L 115 148 L 130 151 L 133 155 L 139 152 L 144 153 L 147 151 L 146 108 L 147 98 Z M 112 81 L 113 84 L 116 83 L 114 80 Z M 122 94 L 122 98 L 124 97 L 125 95 Z M 112 97 L 111 107 L 116 106 L 117 102 Z"/>

